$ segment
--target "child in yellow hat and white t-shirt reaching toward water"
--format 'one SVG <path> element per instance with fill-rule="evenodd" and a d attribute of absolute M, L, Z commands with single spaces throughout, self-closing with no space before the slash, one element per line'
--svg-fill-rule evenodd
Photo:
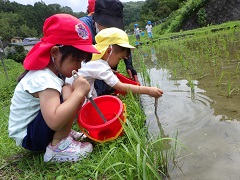
<path fill-rule="evenodd" d="M 106 84 L 120 92 L 132 91 L 133 93 L 148 94 L 152 97 L 162 96 L 162 90 L 156 87 L 137 86 L 119 81 L 114 75 L 111 67 L 116 66 L 121 59 L 128 58 L 130 49 L 134 47 L 129 44 L 127 34 L 118 28 L 107 28 L 101 30 L 96 36 L 96 49 L 101 54 L 93 54 L 92 61 L 82 64 L 78 70 L 79 75 L 83 75 L 91 86 L 90 93 L 96 97 L 94 89 L 95 79 L 104 80 Z M 73 81 L 67 79 L 68 82 Z"/>

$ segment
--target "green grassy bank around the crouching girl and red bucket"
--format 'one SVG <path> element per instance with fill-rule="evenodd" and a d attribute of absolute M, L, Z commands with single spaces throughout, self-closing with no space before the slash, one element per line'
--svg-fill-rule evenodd
<path fill-rule="evenodd" d="M 21 64 L 5 60 L 9 79 L 0 66 L 0 179 L 161 179 L 168 161 L 174 161 L 174 138 L 153 139 L 147 135 L 145 114 L 137 95 L 120 97 L 127 107 L 124 135 L 107 143 L 94 143 L 93 152 L 76 163 L 44 163 L 43 153 L 17 147 L 8 137 L 9 106 Z M 74 129 L 78 129 L 74 124 Z M 165 144 L 169 144 L 168 148 Z M 172 145 L 171 145 L 172 144 Z"/>

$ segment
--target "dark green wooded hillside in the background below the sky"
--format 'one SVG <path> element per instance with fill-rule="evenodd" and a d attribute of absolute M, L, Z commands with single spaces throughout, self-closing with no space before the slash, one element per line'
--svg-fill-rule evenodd
<path fill-rule="evenodd" d="M 128 32 L 133 32 L 135 23 L 145 30 L 147 21 L 156 22 L 168 17 L 177 10 L 183 0 L 146 0 L 123 3 L 124 24 Z M 45 19 L 56 13 L 68 13 L 79 18 L 86 12 L 74 13 L 67 6 L 59 4 L 46 5 L 43 1 L 32 5 L 0 0 L 0 34 L 3 41 L 12 37 L 41 37 Z"/>

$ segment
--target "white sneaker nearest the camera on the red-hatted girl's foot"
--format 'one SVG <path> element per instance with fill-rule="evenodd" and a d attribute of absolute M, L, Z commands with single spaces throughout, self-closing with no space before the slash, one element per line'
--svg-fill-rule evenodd
<path fill-rule="evenodd" d="M 56 146 L 47 146 L 44 162 L 76 162 L 92 152 L 93 146 L 89 142 L 75 141 L 72 136 L 64 138 Z"/>

